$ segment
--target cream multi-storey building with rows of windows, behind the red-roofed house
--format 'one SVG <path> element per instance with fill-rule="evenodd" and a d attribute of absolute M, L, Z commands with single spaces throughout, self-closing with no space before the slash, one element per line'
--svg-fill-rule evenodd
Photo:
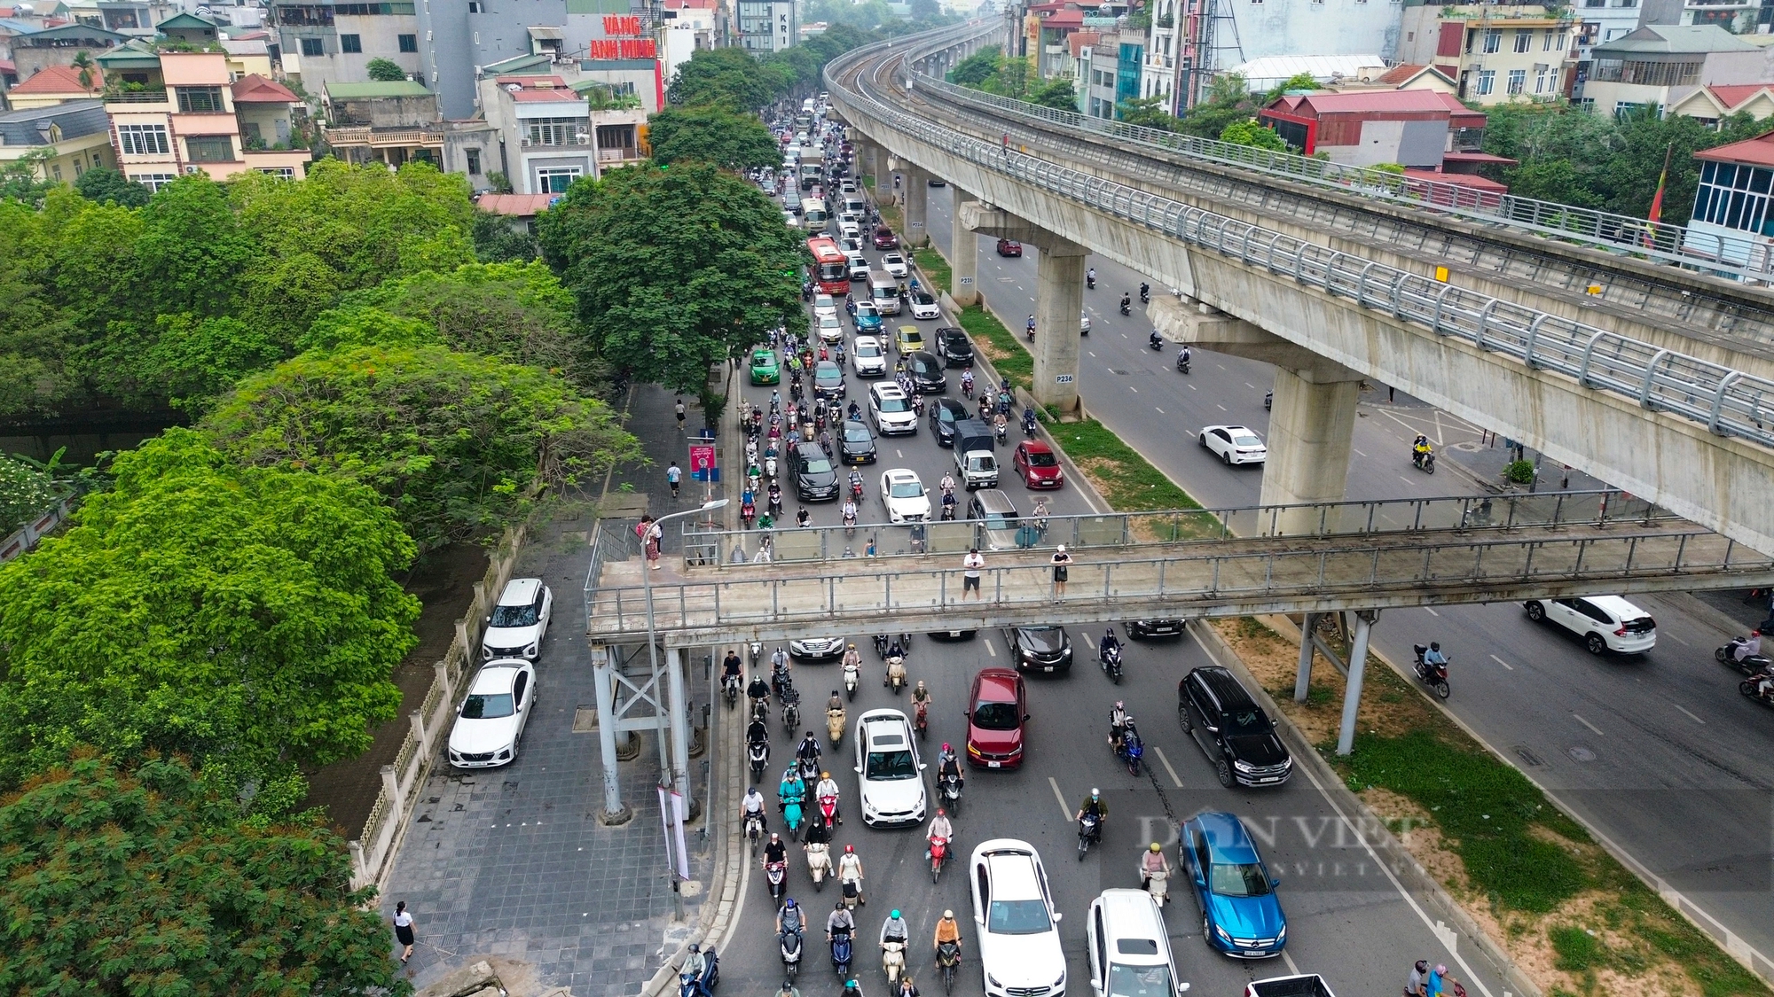
<path fill-rule="evenodd" d="M 1566 96 L 1581 27 L 1566 7 L 1405 7 L 1400 59 L 1440 69 L 1464 101 L 1552 101 Z"/>

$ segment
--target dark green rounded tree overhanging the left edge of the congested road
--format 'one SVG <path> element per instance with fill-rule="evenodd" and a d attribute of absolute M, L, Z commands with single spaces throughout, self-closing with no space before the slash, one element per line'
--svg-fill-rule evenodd
<path fill-rule="evenodd" d="M 738 176 L 706 163 L 616 170 L 575 183 L 538 224 L 598 353 L 635 380 L 710 404 L 710 365 L 775 326 L 805 328 L 804 250 Z"/>

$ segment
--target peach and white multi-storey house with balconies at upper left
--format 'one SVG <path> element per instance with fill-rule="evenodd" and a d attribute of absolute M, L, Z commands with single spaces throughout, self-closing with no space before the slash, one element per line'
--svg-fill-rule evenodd
<path fill-rule="evenodd" d="M 224 51 L 161 51 L 133 39 L 98 57 L 119 169 L 151 188 L 179 174 L 302 176 L 302 99 L 263 76 L 234 80 Z"/>

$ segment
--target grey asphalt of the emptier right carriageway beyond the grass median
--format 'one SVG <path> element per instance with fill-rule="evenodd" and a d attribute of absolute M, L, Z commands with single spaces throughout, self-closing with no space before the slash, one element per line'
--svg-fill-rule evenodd
<path fill-rule="evenodd" d="M 930 234 L 947 247 L 949 190 L 928 193 Z M 1086 309 L 1095 328 L 1079 376 L 1089 412 L 1199 502 L 1256 504 L 1261 468 L 1222 467 L 1194 438 L 1212 422 L 1244 422 L 1267 436 L 1261 401 L 1272 369 L 1196 351 L 1194 373 L 1178 374 L 1174 348 L 1160 357 L 1146 346 L 1141 277 L 1093 263 L 1098 286 L 1086 291 Z M 1032 252 L 1002 259 L 981 241 L 977 280 L 999 314 L 1034 309 L 1034 273 Z M 1134 293 L 1130 318 L 1118 309 L 1123 291 Z M 1428 406 L 1375 403 L 1384 397 L 1384 389 L 1364 392 L 1348 497 L 1476 493 L 1456 474 L 1416 472 L 1409 442 L 1423 431 L 1446 454 L 1480 428 Z M 1563 632 L 1531 624 L 1515 603 L 1391 610 L 1375 626 L 1375 646 L 1409 662 L 1414 642 L 1440 640 L 1455 658 L 1449 706 L 1462 722 L 1742 944 L 1774 956 L 1774 715 L 1739 695 L 1740 676 L 1712 660 L 1739 632 L 1730 621 L 1685 594 L 1634 601 L 1659 630 L 1657 649 L 1643 658 L 1595 658 Z M 1765 958 L 1758 965 L 1770 967 Z"/>

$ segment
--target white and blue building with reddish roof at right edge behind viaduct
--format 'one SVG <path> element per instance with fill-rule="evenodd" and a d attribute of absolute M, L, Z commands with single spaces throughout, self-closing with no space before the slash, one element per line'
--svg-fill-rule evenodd
<path fill-rule="evenodd" d="M 1774 255 L 1774 131 L 1694 153 L 1699 188 L 1682 241 L 1684 252 L 1735 264 Z"/>

